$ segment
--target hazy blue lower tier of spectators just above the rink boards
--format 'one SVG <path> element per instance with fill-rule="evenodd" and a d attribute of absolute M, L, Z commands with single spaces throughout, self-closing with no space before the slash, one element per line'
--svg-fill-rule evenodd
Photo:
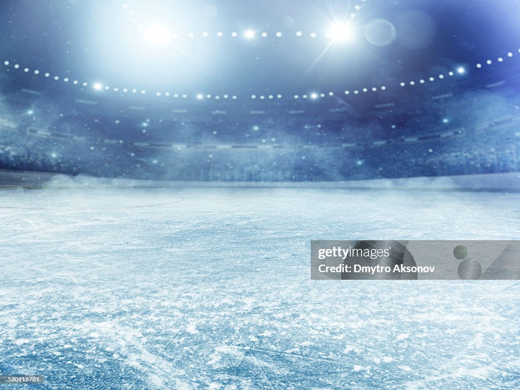
<path fill-rule="evenodd" d="M 106 144 L 0 128 L 0 168 L 157 180 L 326 181 L 517 172 L 514 123 L 388 145 L 183 149 Z M 264 145 L 265 146 L 265 145 Z"/>

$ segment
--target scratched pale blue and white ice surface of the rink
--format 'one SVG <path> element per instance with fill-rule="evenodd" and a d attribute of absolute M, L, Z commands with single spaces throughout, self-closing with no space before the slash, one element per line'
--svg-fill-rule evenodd
<path fill-rule="evenodd" d="M 520 284 L 309 269 L 311 239 L 519 239 L 520 193 L 11 188 L 0 213 L 0 372 L 31 388 L 520 388 Z"/>

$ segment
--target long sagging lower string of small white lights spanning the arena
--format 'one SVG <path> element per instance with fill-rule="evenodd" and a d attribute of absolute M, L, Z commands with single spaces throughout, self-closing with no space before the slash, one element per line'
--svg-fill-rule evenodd
<path fill-rule="evenodd" d="M 520 49 L 517 50 L 518 53 L 520 53 Z M 508 53 L 506 53 L 506 55 L 504 57 L 498 57 L 496 59 L 496 61 L 498 63 L 503 63 L 505 61 L 505 59 L 507 58 L 512 58 L 514 56 L 514 53 L 513 51 L 509 51 Z M 482 69 L 484 66 L 490 66 L 491 64 L 494 63 L 495 60 L 492 60 L 492 59 L 487 59 L 486 61 L 483 61 L 482 63 L 479 62 L 477 64 L 475 64 L 475 67 L 477 69 Z M 197 94 L 187 94 L 187 93 L 184 93 L 184 94 L 179 94 L 179 93 L 170 93 L 170 92 L 152 92 L 150 93 L 148 90 L 146 89 L 142 89 L 142 88 L 129 88 L 129 87 L 123 87 L 123 88 L 120 88 L 120 87 L 111 87 L 109 85 L 105 85 L 103 83 L 100 83 L 100 82 L 87 82 L 87 81 L 79 81 L 79 80 L 75 80 L 75 79 L 71 79 L 70 77 L 61 77 L 61 76 L 58 76 L 58 75 L 51 75 L 49 72 L 42 72 L 38 69 L 34 69 L 34 70 L 31 70 L 30 68 L 28 67 L 23 67 L 18 64 L 18 63 L 14 63 L 14 64 L 11 64 L 11 62 L 9 60 L 5 60 L 4 61 L 4 67 L 7 68 L 7 69 L 15 69 L 15 70 L 21 70 L 23 73 L 33 73 L 35 75 L 40 75 L 40 76 L 43 76 L 45 77 L 46 79 L 50 79 L 50 80 L 54 80 L 54 81 L 62 81 L 64 83 L 70 83 L 72 85 L 76 85 L 76 86 L 82 86 L 82 87 L 92 87 L 93 90 L 95 91 L 99 91 L 99 92 L 102 92 L 103 90 L 106 90 L 106 91 L 112 91 L 112 92 L 115 92 L 115 93 L 120 93 L 120 94 L 140 94 L 140 95 L 152 95 L 152 96 L 155 96 L 155 97 L 173 97 L 173 98 L 181 98 L 181 99 L 188 99 L 188 98 L 194 98 L 196 100 L 207 100 L 207 99 L 215 99 L 215 100 L 219 100 L 219 99 L 230 99 L 230 100 L 237 100 L 239 99 L 239 95 L 238 94 L 219 94 L 219 95 L 212 95 L 212 94 L 203 94 L 203 93 L 197 93 Z M 451 70 L 449 72 L 447 72 L 446 74 L 444 73 L 441 73 L 441 74 L 438 74 L 438 75 L 435 75 L 435 76 L 430 76 L 430 77 L 424 77 L 422 79 L 419 79 L 419 80 L 409 80 L 409 81 L 401 81 L 399 83 L 399 86 L 400 87 L 407 87 L 407 86 L 415 86 L 415 85 L 424 85 L 426 84 L 427 82 L 435 82 L 435 81 L 441 81 L 441 80 L 445 80 L 447 79 L 447 77 L 453 77 L 453 76 L 456 76 L 456 75 L 459 75 L 459 76 L 463 76 L 465 75 L 466 73 L 468 72 L 468 70 L 463 67 L 463 66 L 459 66 L 457 67 L 456 69 L 454 70 Z M 345 89 L 343 91 L 328 91 L 328 92 L 310 92 L 310 93 L 304 93 L 304 94 L 294 94 L 294 95 L 289 95 L 289 96 L 284 96 L 282 94 L 252 94 L 249 96 L 250 99 L 252 100 L 264 100 L 264 101 L 269 101 L 269 100 L 277 100 L 277 99 L 282 99 L 282 98 L 293 98 L 293 99 L 308 99 L 308 100 L 317 100 L 319 98 L 326 98 L 326 97 L 332 97 L 332 96 L 335 96 L 335 95 L 361 95 L 361 94 L 366 94 L 366 93 L 377 93 L 377 92 L 384 92 L 387 90 L 387 86 L 386 85 L 380 85 L 380 86 L 372 86 L 372 87 L 363 87 L 363 88 L 360 88 L 360 89 Z"/>

